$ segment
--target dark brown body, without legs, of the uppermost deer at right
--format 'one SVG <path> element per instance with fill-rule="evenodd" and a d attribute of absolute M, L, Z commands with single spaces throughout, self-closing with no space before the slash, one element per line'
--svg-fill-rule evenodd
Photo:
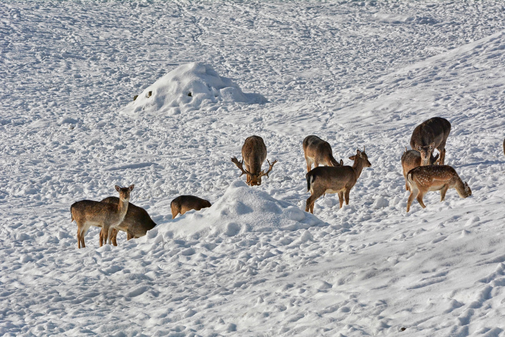
<path fill-rule="evenodd" d="M 441 143 L 445 143 L 450 132 L 450 123 L 442 117 L 430 118 L 414 129 L 411 136 L 410 145 L 416 150 L 416 144 L 422 147 L 435 143 L 437 148 Z"/>

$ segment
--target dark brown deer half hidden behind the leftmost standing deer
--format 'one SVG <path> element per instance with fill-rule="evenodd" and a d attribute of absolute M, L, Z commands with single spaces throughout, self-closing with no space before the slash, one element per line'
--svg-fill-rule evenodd
<path fill-rule="evenodd" d="M 118 197 L 107 197 L 101 202 L 119 205 L 120 199 Z M 126 240 L 129 240 L 144 236 L 148 230 L 153 229 L 155 226 L 156 222 L 151 219 L 149 214 L 142 207 L 128 203 L 128 209 L 123 221 L 112 230 L 111 241 L 115 239 L 114 232 L 117 234 L 118 230 L 126 232 Z M 102 247 L 102 242 L 105 243 L 105 236 L 104 233 L 100 231 L 100 247 Z"/>

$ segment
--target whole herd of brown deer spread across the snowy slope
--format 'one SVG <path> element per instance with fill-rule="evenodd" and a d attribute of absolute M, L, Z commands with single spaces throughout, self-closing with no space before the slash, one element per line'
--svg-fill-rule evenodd
<path fill-rule="evenodd" d="M 450 132 L 450 123 L 444 118 L 433 117 L 418 125 L 411 137 L 410 145 L 413 150 L 407 150 L 401 156 L 401 166 L 405 177 L 405 188 L 410 191 L 407 202 L 407 212 L 409 212 L 414 198 L 422 208 L 423 197 L 428 191 L 440 190 L 440 201 L 445 198 L 445 193 L 449 188 L 456 188 L 461 198 L 472 195 L 468 183 L 464 183 L 456 173 L 455 169 L 444 165 L 445 142 Z M 333 157 L 330 144 L 315 135 L 307 136 L 303 141 L 305 160 L 307 161 L 307 189 L 311 196 L 307 199 L 306 212 L 314 213 L 315 201 L 325 194 L 337 193 L 340 201 L 340 208 L 345 200 L 349 204 L 349 192 L 356 184 L 363 168 L 372 164 L 368 160 L 365 148 L 363 151 L 356 150 L 356 155 L 349 157 L 354 161 L 352 166 L 343 165 L 343 161 L 337 162 Z M 433 157 L 433 151 L 437 149 L 438 154 Z M 505 153 L 505 140 L 503 141 L 503 151 Z M 260 136 L 247 137 L 242 146 L 242 161 L 236 157 L 231 158 L 242 172 L 240 176 L 246 174 L 246 182 L 250 186 L 261 185 L 263 176 L 269 177 L 273 163 L 267 160 L 270 165 L 268 171 L 261 169 L 263 162 L 267 158 L 267 147 Z M 245 164 L 245 169 L 243 167 Z M 326 166 L 319 166 L 326 164 Z M 312 169 L 312 165 L 314 168 Z M 149 217 L 147 212 L 129 202 L 130 192 L 135 185 L 129 187 L 115 186 L 119 192 L 119 198 L 108 197 L 102 201 L 82 200 L 74 203 L 70 207 L 72 221 L 77 223 L 77 244 L 78 247 L 86 247 L 84 235 L 90 226 L 101 227 L 99 243 L 102 247 L 106 242 L 117 246 L 116 235 L 118 230 L 127 233 L 127 239 L 138 238 L 156 226 L 156 223 Z M 202 208 L 211 207 L 207 200 L 195 196 L 179 196 L 170 204 L 172 219 L 179 213 L 184 214 L 189 210 L 199 211 Z"/>

